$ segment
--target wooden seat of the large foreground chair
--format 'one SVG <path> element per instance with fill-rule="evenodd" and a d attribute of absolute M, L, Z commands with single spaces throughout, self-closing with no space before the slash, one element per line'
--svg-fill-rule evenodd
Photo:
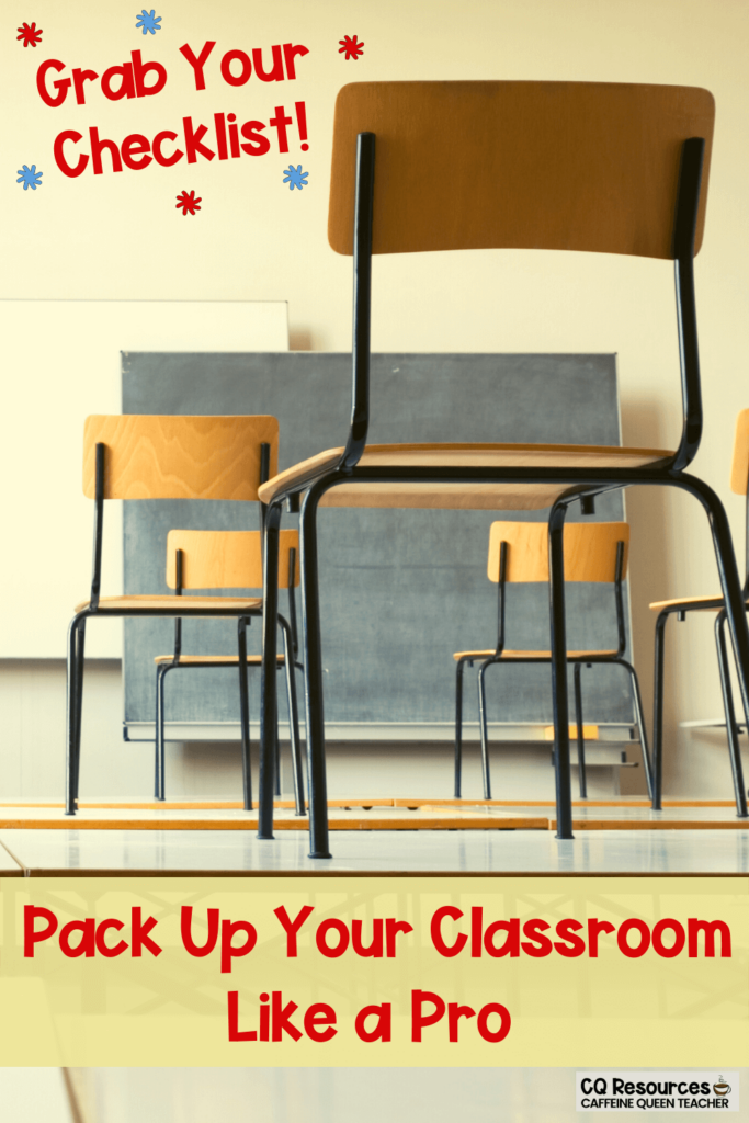
<path fill-rule="evenodd" d="M 305 491 L 316 480 L 335 471 L 342 448 L 301 460 L 268 480 L 258 490 L 263 503 L 287 491 Z M 603 445 L 368 445 L 363 468 L 643 468 L 674 456 L 659 448 L 616 448 Z M 485 511 L 537 511 L 551 504 L 569 484 L 490 483 L 377 483 L 338 484 L 320 506 L 422 508 Z"/>

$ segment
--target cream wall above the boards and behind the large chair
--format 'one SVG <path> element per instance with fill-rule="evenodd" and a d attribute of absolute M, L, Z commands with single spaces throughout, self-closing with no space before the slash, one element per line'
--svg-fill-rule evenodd
<path fill-rule="evenodd" d="M 737 542 L 742 503 L 728 491 L 733 420 L 749 404 L 748 351 L 749 80 L 743 0 L 284 0 L 254 6 L 172 0 L 158 8 L 164 30 L 126 35 L 131 6 L 111 0 L 95 18 L 82 0 L 40 0 L 35 18 L 45 46 L 3 51 L 0 95 L 13 112 L 3 124 L 13 167 L 42 163 L 44 189 L 22 192 L 6 175 L 0 206 L 4 264 L 0 295 L 170 300 L 287 300 L 292 346 L 344 350 L 350 343 L 350 263 L 326 245 L 332 101 L 345 82 L 364 79 L 554 79 L 704 85 L 718 124 L 704 248 L 697 262 L 705 437 L 695 471 L 721 494 Z M 17 24 L 28 18 L 13 0 Z M 129 26 L 129 24 L 127 24 Z M 54 35 L 53 35 L 54 33 Z M 129 33 L 128 33 L 129 34 Z M 365 53 L 346 62 L 342 35 Z M 177 46 L 217 39 L 208 89 L 190 90 Z M 243 90 L 223 85 L 223 51 L 303 43 L 299 79 Z M 138 47 L 162 61 L 167 89 L 128 104 L 91 94 L 90 106 L 47 109 L 29 102 L 29 67 L 49 45 L 70 65 L 119 63 Z M 8 62 L 6 65 L 6 56 Z M 143 173 L 55 175 L 47 155 L 61 128 L 95 124 L 102 135 L 153 136 L 185 113 L 214 111 L 267 120 L 275 104 L 305 100 L 310 149 L 219 164 L 184 162 Z M 81 128 L 81 131 L 85 131 Z M 449 156 L 449 137 L 445 159 Z M 16 163 L 13 164 L 13 161 Z M 302 163 L 310 185 L 281 188 L 283 167 Z M 48 174 L 47 174 L 48 170 Z M 153 174 L 152 174 L 153 173 Z M 172 204 L 195 188 L 203 210 L 183 218 Z M 429 184 L 424 183 L 424 192 Z M 624 441 L 673 446 L 679 427 L 674 301 L 667 263 L 545 253 L 398 256 L 375 264 L 373 346 L 403 350 L 554 350 L 619 354 Z M 630 494 L 636 661 L 649 704 L 650 599 L 712 591 L 715 570 L 704 517 L 693 502 Z M 687 733 L 678 722 L 720 713 L 711 621 L 678 626 L 668 664 L 668 783 L 672 791 L 728 794 L 722 738 Z M 676 632 L 677 626 L 673 627 Z"/>

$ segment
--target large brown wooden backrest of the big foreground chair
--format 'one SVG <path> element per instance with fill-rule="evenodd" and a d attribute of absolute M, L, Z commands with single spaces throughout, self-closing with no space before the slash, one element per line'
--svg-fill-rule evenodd
<path fill-rule="evenodd" d="M 357 82 L 334 126 L 328 238 L 353 253 L 358 133 L 374 133 L 373 253 L 578 249 L 672 257 L 681 149 L 712 94 L 609 82 Z"/>

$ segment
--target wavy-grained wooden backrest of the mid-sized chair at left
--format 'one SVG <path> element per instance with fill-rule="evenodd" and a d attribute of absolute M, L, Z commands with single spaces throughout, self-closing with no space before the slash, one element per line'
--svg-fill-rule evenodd
<path fill-rule="evenodd" d="M 272 417 L 94 416 L 85 420 L 83 492 L 94 499 L 95 446 L 103 444 L 104 499 L 257 500 L 261 445 L 277 471 Z"/>

